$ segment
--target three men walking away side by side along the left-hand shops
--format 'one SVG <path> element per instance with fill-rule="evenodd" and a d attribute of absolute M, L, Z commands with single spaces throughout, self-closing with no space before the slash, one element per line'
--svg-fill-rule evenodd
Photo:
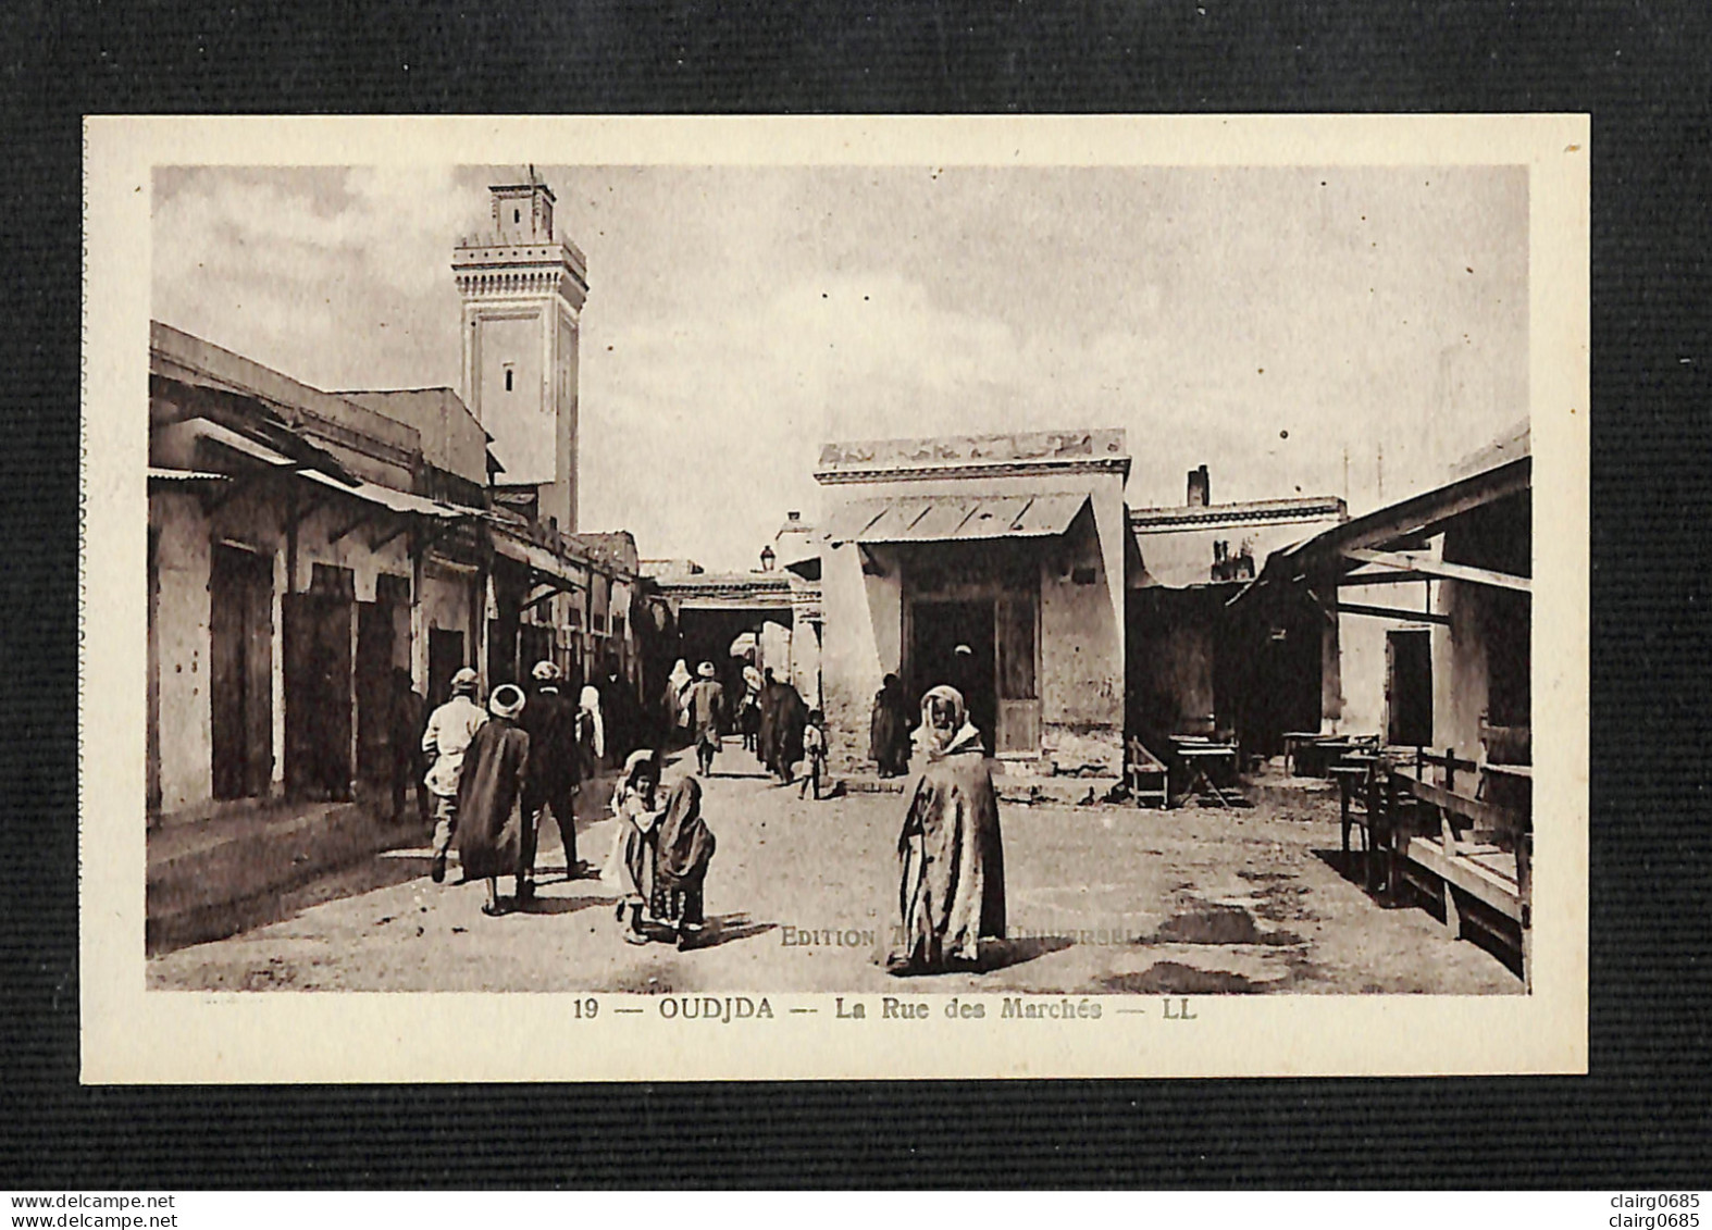
<path fill-rule="evenodd" d="M 433 819 L 430 876 L 445 881 L 455 840 L 464 879 L 488 881 L 483 914 L 490 915 L 508 908 L 498 893 L 502 876 L 515 876 L 517 903 L 534 896 L 536 850 L 550 811 L 565 847 L 565 878 L 587 869 L 577 859 L 575 795 L 606 753 L 599 691 L 584 688 L 574 703 L 551 662 L 536 664 L 531 677 L 531 695 L 500 684 L 483 708 L 478 676 L 462 667 L 452 676 L 452 698 L 428 717 L 421 736 L 430 758 L 423 778 Z"/>

